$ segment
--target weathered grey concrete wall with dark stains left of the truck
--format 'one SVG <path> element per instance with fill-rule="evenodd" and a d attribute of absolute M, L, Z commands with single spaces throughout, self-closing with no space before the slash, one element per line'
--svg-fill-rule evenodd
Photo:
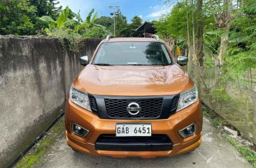
<path fill-rule="evenodd" d="M 0 167 L 6 167 L 52 121 L 100 40 L 71 52 L 54 38 L 0 36 Z"/>

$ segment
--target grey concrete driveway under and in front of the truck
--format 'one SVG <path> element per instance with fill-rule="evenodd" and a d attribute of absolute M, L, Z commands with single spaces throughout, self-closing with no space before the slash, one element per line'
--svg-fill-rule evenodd
<path fill-rule="evenodd" d="M 50 147 L 50 151 L 34 167 L 251 167 L 246 159 L 225 141 L 208 119 L 204 119 L 203 131 L 201 146 L 192 153 L 154 159 L 110 158 L 74 152 L 66 145 L 63 134 L 56 139 L 55 144 Z"/>

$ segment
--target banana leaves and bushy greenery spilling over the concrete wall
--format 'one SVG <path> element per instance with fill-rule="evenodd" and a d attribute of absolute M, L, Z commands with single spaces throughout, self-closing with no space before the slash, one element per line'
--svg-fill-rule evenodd
<path fill-rule="evenodd" d="M 80 13 L 73 13 L 69 6 L 59 13 L 57 20 L 43 16 L 40 20 L 48 23 L 45 33 L 48 36 L 59 38 L 62 45 L 69 45 L 69 49 L 78 51 L 83 38 L 105 38 L 111 32 L 105 26 L 95 24 L 97 13 L 94 9 L 87 15 L 85 22 L 80 18 Z M 76 18 L 76 20 L 75 20 Z"/>

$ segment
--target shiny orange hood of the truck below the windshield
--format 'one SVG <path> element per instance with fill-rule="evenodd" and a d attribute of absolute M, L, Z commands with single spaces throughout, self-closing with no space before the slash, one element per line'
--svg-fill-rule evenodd
<path fill-rule="evenodd" d="M 87 65 L 73 86 L 80 91 L 108 96 L 163 96 L 191 89 L 194 84 L 180 66 Z"/>

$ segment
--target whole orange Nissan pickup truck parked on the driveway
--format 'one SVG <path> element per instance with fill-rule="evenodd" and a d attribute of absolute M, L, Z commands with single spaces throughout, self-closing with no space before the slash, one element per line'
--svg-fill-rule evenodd
<path fill-rule="evenodd" d="M 102 40 L 73 81 L 66 102 L 67 144 L 115 158 L 155 158 L 193 151 L 201 143 L 197 86 L 153 38 Z"/>

